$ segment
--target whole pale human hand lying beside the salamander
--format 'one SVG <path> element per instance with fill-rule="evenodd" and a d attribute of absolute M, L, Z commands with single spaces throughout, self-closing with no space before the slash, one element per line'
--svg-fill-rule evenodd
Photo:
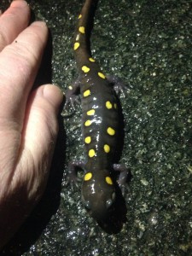
<path fill-rule="evenodd" d="M 0 16 L 0 248 L 44 193 L 58 132 L 61 90 L 32 85 L 48 38 L 15 0 Z"/>

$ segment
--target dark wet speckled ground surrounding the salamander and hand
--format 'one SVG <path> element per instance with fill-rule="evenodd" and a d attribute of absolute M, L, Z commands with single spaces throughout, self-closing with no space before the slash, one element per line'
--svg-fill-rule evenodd
<path fill-rule="evenodd" d="M 72 38 L 83 1 L 28 2 L 51 34 L 52 65 L 44 61 L 40 81 L 52 77 L 65 90 L 77 75 Z M 60 119 L 44 198 L 1 255 L 192 254 L 191 38 L 192 1 L 99 1 L 93 55 L 127 87 L 120 96 L 125 118 L 120 162 L 132 175 L 126 222 L 109 235 L 84 211 L 80 188 L 64 186 L 68 161 L 84 158 L 79 108 Z"/>

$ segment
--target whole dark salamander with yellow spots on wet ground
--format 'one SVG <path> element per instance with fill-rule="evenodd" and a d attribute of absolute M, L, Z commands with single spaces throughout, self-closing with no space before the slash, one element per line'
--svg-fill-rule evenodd
<path fill-rule="evenodd" d="M 111 176 L 119 171 L 119 185 L 127 177 L 124 165 L 114 164 L 119 140 L 119 111 L 116 93 L 111 82 L 90 53 L 90 23 L 96 0 L 86 0 L 79 15 L 73 51 L 79 70 L 79 79 L 66 92 L 66 106 L 74 103 L 80 90 L 82 105 L 82 133 L 86 161 L 74 160 L 69 164 L 69 177 L 76 181 L 76 168 L 84 170 L 82 201 L 93 218 L 108 218 L 116 199 L 116 188 Z"/>

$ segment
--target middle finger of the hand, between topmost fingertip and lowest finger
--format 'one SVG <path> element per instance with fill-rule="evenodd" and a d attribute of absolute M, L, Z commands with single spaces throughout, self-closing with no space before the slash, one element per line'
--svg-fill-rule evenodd
<path fill-rule="evenodd" d="M 36 21 L 1 52 L 0 90 L 3 93 L 0 93 L 0 126 L 3 127 L 5 120 L 12 119 L 22 127 L 26 100 L 38 72 L 47 37 L 45 23 Z"/>

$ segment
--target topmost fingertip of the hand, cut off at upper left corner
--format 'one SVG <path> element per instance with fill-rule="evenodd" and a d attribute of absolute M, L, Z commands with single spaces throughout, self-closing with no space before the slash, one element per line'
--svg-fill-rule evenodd
<path fill-rule="evenodd" d="M 28 25 L 30 8 L 26 1 L 13 1 L 3 15 L 0 15 L 0 51 L 10 44 Z"/>

